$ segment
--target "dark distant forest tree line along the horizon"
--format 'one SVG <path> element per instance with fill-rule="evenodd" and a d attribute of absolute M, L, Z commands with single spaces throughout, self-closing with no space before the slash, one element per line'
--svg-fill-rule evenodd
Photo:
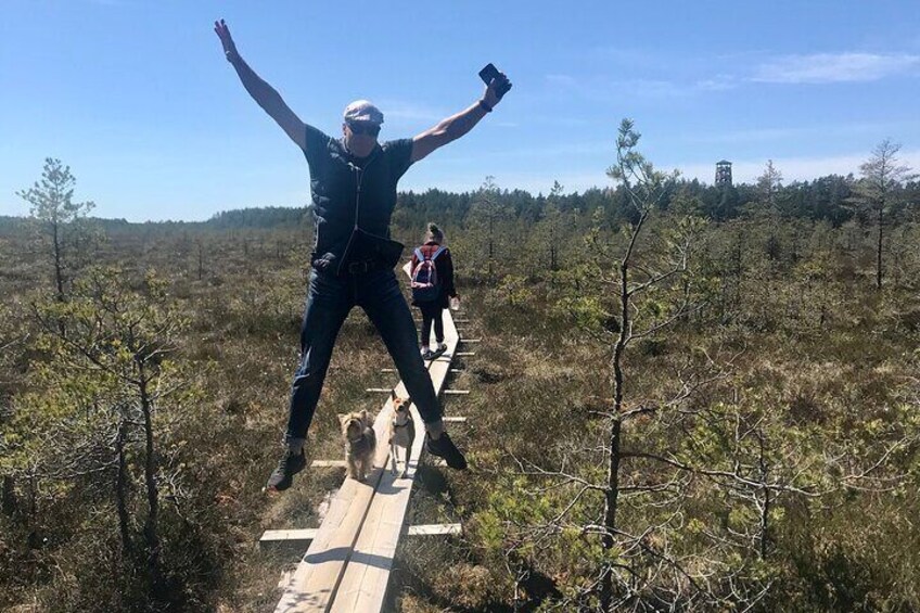
<path fill-rule="evenodd" d="M 897 152 L 897 145 L 884 141 L 889 148 L 886 157 Z M 882 146 L 880 144 L 879 146 Z M 874 159 L 871 158 L 871 159 Z M 867 162 L 869 164 L 870 161 Z M 60 165 L 60 162 L 58 162 Z M 895 168 L 894 170 L 897 170 Z M 892 173 L 892 169 L 882 169 Z M 900 173 L 899 179 L 892 186 L 890 195 L 892 221 L 903 219 L 905 208 L 920 199 L 920 181 L 909 173 Z M 854 217 L 867 218 L 865 208 L 860 209 L 859 188 L 870 179 L 868 176 L 826 175 L 813 180 L 796 180 L 782 182 L 781 168 L 769 161 L 764 174 L 752 183 L 741 182 L 731 186 L 714 186 L 699 179 L 676 178 L 663 195 L 661 206 L 667 209 L 679 194 L 693 200 L 695 214 L 714 221 L 726 221 L 744 214 L 751 206 L 767 204 L 785 217 L 825 220 L 838 227 Z M 450 192 L 437 188 L 421 192 L 403 191 L 397 199 L 394 213 L 394 225 L 421 225 L 429 218 L 438 219 L 443 224 L 458 226 L 467 217 L 473 204 L 481 199 L 484 191 L 500 201 L 503 208 L 522 221 L 536 222 L 545 214 L 547 205 L 552 202 L 560 212 L 592 213 L 598 208 L 605 209 L 609 218 L 617 219 L 629 215 L 625 206 L 626 199 L 622 188 L 589 188 L 583 192 L 564 193 L 564 186 L 557 183 L 550 194 L 542 192 L 536 195 L 522 189 L 500 188 L 495 177 L 487 177 L 483 186 L 473 191 Z M 766 197 L 764 197 L 766 194 Z M 612 205 L 612 206 L 611 206 Z M 238 209 L 220 210 L 206 221 L 144 221 L 129 222 L 125 219 L 88 217 L 101 225 L 106 231 L 118 232 L 138 226 L 149 226 L 162 229 L 246 229 L 274 228 L 279 226 L 297 227 L 311 224 L 311 205 L 304 206 L 253 206 Z M 25 217 L 0 216 L 0 232 L 15 231 L 27 224 Z"/>

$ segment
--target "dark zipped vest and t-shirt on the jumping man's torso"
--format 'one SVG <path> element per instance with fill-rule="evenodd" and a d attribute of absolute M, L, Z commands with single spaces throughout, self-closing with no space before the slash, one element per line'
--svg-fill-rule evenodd
<path fill-rule="evenodd" d="M 355 157 L 341 140 L 307 126 L 304 156 L 310 168 L 310 195 L 316 213 L 314 257 L 341 258 L 355 227 L 389 238 L 396 206 L 396 183 L 412 164 L 412 139 L 378 144 L 370 155 Z M 360 202 L 358 187 L 360 184 Z"/>

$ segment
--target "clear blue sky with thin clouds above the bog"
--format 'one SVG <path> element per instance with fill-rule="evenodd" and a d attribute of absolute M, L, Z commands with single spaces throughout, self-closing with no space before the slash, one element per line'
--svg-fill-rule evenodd
<path fill-rule="evenodd" d="M 258 5 L 257 5 L 258 4 Z M 131 221 L 308 202 L 299 150 L 248 98 L 212 30 L 299 117 L 340 133 L 373 100 L 382 139 L 475 102 L 494 62 L 514 82 L 400 189 L 566 192 L 610 184 L 623 117 L 659 167 L 712 182 L 771 158 L 787 182 L 857 173 L 885 138 L 920 168 L 915 1 L 213 2 L 0 0 L 0 215 L 59 157 L 77 200 Z"/>

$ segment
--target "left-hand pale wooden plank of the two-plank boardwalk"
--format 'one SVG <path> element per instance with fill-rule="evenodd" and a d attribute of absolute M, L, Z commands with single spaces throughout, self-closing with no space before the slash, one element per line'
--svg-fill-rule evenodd
<path fill-rule="evenodd" d="M 401 383 L 397 385 L 396 393 L 406 397 L 406 388 Z M 392 400 L 387 398 L 373 425 L 380 442 L 374 454 L 374 470 L 365 483 L 346 478 L 332 497 L 325 519 L 284 587 L 276 613 L 329 610 L 383 473 L 380 467 L 386 465 L 389 449 L 382 442 L 386 440 L 387 422 L 392 413 Z"/>

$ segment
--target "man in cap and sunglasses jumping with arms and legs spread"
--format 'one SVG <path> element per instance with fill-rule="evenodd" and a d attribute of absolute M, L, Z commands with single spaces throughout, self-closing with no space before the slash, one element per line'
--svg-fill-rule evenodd
<path fill-rule="evenodd" d="M 425 424 L 425 447 L 447 465 L 463 470 L 467 459 L 444 430 L 442 408 L 417 348 L 416 327 L 393 267 L 399 245 L 389 241 L 396 184 L 413 163 L 457 140 L 498 104 L 510 86 L 500 74 L 468 108 L 411 139 L 379 142 L 383 113 L 367 100 L 345 107 L 342 137 L 333 139 L 305 124 L 240 56 L 223 20 L 214 30 L 243 87 L 304 152 L 310 169 L 316 213 L 316 244 L 310 257 L 301 363 L 294 374 L 284 452 L 267 490 L 291 487 L 306 465 L 304 445 L 332 357 L 332 347 L 348 311 L 360 306 L 393 357 L 406 389 Z"/>

